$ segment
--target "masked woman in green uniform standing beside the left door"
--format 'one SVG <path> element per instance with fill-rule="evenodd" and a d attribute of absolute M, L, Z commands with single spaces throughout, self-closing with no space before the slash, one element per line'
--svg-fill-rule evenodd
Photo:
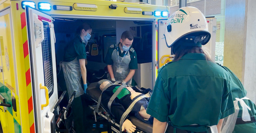
<path fill-rule="evenodd" d="M 83 133 L 85 128 L 83 105 L 81 95 L 83 95 L 87 88 L 86 82 L 86 51 L 85 47 L 91 37 L 91 26 L 84 23 L 77 29 L 77 36 L 67 45 L 64 51 L 63 62 L 60 63 L 63 70 L 66 89 L 69 98 L 73 91 L 76 91 L 75 98 L 72 102 L 72 112 L 74 121 L 74 130 L 76 133 Z M 81 86 L 81 79 L 83 80 L 83 87 Z"/>

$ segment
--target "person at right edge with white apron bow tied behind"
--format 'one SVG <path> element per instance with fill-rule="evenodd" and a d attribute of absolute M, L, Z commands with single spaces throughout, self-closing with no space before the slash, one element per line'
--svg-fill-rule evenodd
<path fill-rule="evenodd" d="M 223 133 L 255 133 L 256 132 L 256 107 L 255 104 L 246 97 L 247 91 L 237 76 L 226 66 L 224 67 L 230 74 L 231 90 L 235 106 L 235 113 L 229 115 L 226 124 L 223 126 Z M 238 104 L 239 103 L 239 104 Z M 226 118 L 225 118 L 226 120 Z M 234 125 L 235 124 L 235 125 Z"/>

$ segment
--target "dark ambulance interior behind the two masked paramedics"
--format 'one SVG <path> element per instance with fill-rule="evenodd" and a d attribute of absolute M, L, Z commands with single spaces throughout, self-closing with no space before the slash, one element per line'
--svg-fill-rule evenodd
<path fill-rule="evenodd" d="M 152 21 L 55 19 L 57 73 L 60 70 L 59 63 L 63 61 L 64 49 L 76 36 L 76 29 L 82 23 L 88 23 L 92 27 L 91 39 L 86 46 L 86 51 L 88 51 L 86 69 L 89 83 L 107 77 L 107 65 L 104 59 L 109 46 L 119 43 L 122 32 L 131 31 L 134 34 L 132 47 L 138 59 L 138 69 L 133 78 L 138 87 L 152 89 Z"/>

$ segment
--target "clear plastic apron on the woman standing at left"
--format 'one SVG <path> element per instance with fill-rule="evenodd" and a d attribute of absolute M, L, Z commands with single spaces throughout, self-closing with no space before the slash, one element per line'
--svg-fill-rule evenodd
<path fill-rule="evenodd" d="M 69 98 L 74 91 L 76 91 L 75 98 L 84 94 L 80 81 L 81 70 L 79 61 L 75 58 L 71 62 L 60 62 L 60 66 L 63 70 Z"/>

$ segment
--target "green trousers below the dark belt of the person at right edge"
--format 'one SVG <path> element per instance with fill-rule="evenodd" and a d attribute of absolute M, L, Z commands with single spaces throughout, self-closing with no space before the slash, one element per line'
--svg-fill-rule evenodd
<path fill-rule="evenodd" d="M 256 122 L 235 125 L 233 133 L 256 133 Z"/>

